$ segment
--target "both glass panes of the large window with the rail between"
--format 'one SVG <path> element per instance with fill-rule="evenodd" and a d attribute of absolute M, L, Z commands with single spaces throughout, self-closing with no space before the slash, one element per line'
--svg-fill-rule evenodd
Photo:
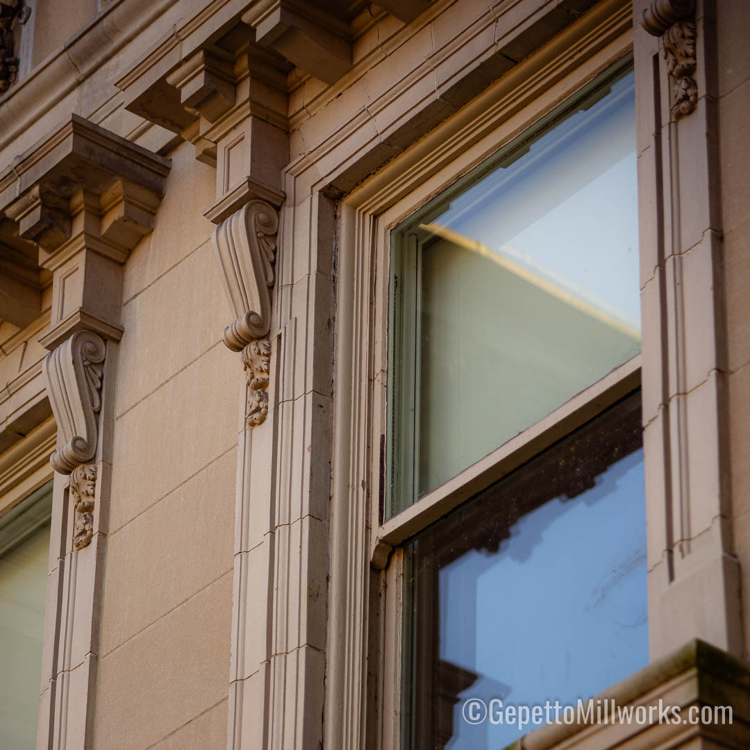
<path fill-rule="evenodd" d="M 610 68 L 391 233 L 382 537 L 401 747 L 468 697 L 575 703 L 648 660 L 634 76 Z"/>

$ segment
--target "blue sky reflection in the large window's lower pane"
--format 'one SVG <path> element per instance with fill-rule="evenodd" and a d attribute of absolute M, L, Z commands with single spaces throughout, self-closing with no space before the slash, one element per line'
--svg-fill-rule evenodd
<path fill-rule="evenodd" d="M 644 666 L 643 449 L 521 517 L 496 553 L 472 549 L 441 568 L 439 588 L 440 658 L 480 675 L 460 694 L 446 748 L 503 748 L 529 730 L 466 724 L 466 698 L 575 703 Z"/>

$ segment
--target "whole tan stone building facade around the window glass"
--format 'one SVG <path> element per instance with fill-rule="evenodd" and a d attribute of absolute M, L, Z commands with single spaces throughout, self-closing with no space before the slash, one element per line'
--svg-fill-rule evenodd
<path fill-rule="evenodd" d="M 9 613 L 20 591 L 46 602 L 0 620 L 33 635 L 0 652 L 7 747 L 33 746 L 30 722 L 55 750 L 484 747 L 460 739 L 476 673 L 425 650 L 407 674 L 422 637 L 440 643 L 410 613 L 410 544 L 599 416 L 613 434 L 637 393 L 647 663 L 594 691 L 729 705 L 733 723 L 579 721 L 519 746 L 750 746 L 750 5 L 0 9 L 0 595 Z M 407 477 L 389 511 L 418 412 L 394 405 L 395 372 L 414 371 L 395 335 L 400 228 L 505 169 L 494 154 L 566 103 L 598 111 L 631 69 L 637 353 L 446 481 L 412 495 Z M 446 349 L 450 435 L 471 363 Z M 4 560 L 30 539 L 48 562 L 13 583 Z M 20 685 L 39 665 L 31 715 Z"/>

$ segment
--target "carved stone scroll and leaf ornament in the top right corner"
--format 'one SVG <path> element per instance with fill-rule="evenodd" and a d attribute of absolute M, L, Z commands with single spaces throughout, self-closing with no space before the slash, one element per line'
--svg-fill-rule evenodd
<path fill-rule="evenodd" d="M 679 119 L 689 115 L 698 98 L 695 73 L 694 0 L 654 0 L 643 11 L 641 26 L 664 40 L 664 58 L 672 79 L 670 112 Z"/>

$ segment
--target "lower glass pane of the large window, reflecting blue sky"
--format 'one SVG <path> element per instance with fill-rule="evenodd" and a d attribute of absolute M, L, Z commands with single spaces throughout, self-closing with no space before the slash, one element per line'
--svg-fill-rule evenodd
<path fill-rule="evenodd" d="M 407 547 L 404 745 L 505 747 L 463 702 L 575 704 L 648 663 L 638 395 Z"/>

